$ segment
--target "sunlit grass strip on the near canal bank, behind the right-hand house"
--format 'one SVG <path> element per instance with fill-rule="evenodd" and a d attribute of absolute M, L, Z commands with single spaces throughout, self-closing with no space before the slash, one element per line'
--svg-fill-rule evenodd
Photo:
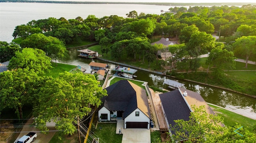
<path fill-rule="evenodd" d="M 236 123 L 246 127 L 251 133 L 254 133 L 252 130 L 252 126 L 255 123 L 254 119 L 247 118 L 245 116 L 242 116 L 240 114 L 236 114 L 234 112 L 230 112 L 228 110 L 209 105 L 210 108 L 219 116 L 224 118 L 224 125 L 232 127 Z"/>

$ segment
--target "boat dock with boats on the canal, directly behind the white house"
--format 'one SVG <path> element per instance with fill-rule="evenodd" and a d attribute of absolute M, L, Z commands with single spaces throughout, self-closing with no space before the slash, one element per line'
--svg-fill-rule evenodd
<path fill-rule="evenodd" d="M 112 70 L 116 71 L 119 76 L 124 76 L 126 78 L 136 78 L 137 76 L 133 74 L 138 71 L 136 69 L 131 69 L 129 67 L 121 67 L 121 66 L 117 66 Z"/>

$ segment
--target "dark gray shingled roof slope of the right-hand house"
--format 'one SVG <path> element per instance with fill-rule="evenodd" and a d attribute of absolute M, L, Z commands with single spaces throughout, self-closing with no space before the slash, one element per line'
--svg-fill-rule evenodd
<path fill-rule="evenodd" d="M 179 90 L 159 94 L 159 97 L 169 124 L 175 125 L 177 119 L 189 120 L 190 109 Z"/>

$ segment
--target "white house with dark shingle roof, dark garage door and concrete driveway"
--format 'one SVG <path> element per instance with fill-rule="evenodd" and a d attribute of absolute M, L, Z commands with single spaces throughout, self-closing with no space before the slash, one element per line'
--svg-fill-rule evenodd
<path fill-rule="evenodd" d="M 120 80 L 106 88 L 108 96 L 102 98 L 98 117 L 124 120 L 126 128 L 150 128 L 150 110 L 146 90 L 128 81 Z"/>

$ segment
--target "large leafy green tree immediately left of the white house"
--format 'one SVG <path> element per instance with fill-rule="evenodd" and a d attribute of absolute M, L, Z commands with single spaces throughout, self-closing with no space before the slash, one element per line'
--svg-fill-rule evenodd
<path fill-rule="evenodd" d="M 76 131 L 76 117 L 83 118 L 91 112 L 90 106 L 100 106 L 106 90 L 98 86 L 95 76 L 90 74 L 60 73 L 40 88 L 39 104 L 34 108 L 38 128 L 47 131 L 46 122 L 54 121 L 56 129 L 64 134 Z"/>

